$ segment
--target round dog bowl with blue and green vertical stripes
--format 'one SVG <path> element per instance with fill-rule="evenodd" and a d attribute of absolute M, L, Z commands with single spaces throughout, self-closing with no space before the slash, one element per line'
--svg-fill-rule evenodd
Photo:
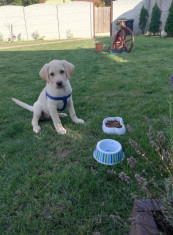
<path fill-rule="evenodd" d="M 96 145 L 93 156 L 96 161 L 104 165 L 114 165 L 125 158 L 121 144 L 112 139 L 100 140 Z"/>

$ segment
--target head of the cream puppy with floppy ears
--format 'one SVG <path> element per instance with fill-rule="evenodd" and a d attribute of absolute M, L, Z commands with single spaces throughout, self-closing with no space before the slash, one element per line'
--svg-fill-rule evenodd
<path fill-rule="evenodd" d="M 43 66 L 39 75 L 47 83 L 51 82 L 56 88 L 61 89 L 66 86 L 73 71 L 74 65 L 66 60 L 53 60 Z"/>

